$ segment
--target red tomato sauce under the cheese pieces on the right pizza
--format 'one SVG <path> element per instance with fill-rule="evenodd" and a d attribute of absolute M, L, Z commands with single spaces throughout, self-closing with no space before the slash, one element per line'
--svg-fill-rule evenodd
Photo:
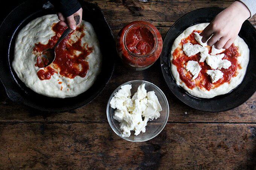
<path fill-rule="evenodd" d="M 180 44 L 183 46 L 187 42 L 194 44 L 199 44 L 197 40 L 195 39 L 194 32 L 200 33 L 201 31 L 194 30 L 187 38 L 184 38 L 181 40 Z M 212 51 L 212 47 L 208 46 L 209 53 Z M 220 70 L 223 72 L 223 78 L 219 79 L 215 83 L 212 83 L 210 76 L 206 73 L 207 70 L 210 70 L 211 67 L 207 65 L 206 61 L 200 62 L 201 71 L 198 75 L 198 77 L 195 80 L 192 80 L 192 75 L 186 71 L 186 69 L 183 67 L 186 62 L 189 60 L 194 60 L 199 62 L 200 60 L 200 53 L 187 57 L 181 48 L 176 48 L 174 50 L 174 53 L 172 54 L 173 60 L 172 63 L 177 67 L 177 71 L 180 75 L 180 79 L 186 84 L 186 86 L 190 89 L 193 89 L 195 87 L 200 87 L 201 89 L 206 89 L 210 91 L 212 88 L 216 88 L 221 86 L 221 84 L 224 84 L 226 82 L 229 82 L 232 77 L 235 77 L 238 72 L 237 69 L 241 69 L 242 67 L 238 64 L 237 57 L 240 56 L 238 52 L 238 47 L 236 47 L 234 44 L 232 44 L 228 49 L 226 49 L 224 52 L 225 57 L 223 59 L 227 59 L 231 62 L 231 66 L 228 69 L 221 68 Z M 220 53 L 220 54 L 222 54 Z"/>

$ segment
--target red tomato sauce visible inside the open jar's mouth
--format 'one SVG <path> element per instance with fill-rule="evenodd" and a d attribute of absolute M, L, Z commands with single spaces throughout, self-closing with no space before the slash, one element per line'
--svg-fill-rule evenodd
<path fill-rule="evenodd" d="M 131 53 L 143 56 L 152 51 L 155 40 L 147 28 L 137 26 L 126 33 L 125 43 Z"/>

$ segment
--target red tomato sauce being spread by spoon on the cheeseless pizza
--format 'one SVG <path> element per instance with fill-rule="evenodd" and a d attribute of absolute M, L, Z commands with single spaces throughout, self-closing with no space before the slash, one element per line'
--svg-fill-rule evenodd
<path fill-rule="evenodd" d="M 34 53 L 41 53 L 48 48 L 53 48 L 61 34 L 66 30 L 66 27 L 59 24 L 53 24 L 52 30 L 55 32 L 55 35 L 49 39 L 47 44 L 41 44 L 40 42 L 35 44 L 33 50 Z M 59 43 L 58 47 L 55 49 L 56 58 L 53 61 L 53 68 L 51 66 L 47 66 L 46 68 L 37 72 L 40 80 L 49 80 L 51 75 L 57 72 L 59 72 L 61 76 L 68 78 L 86 76 L 89 69 L 89 64 L 87 61 L 85 61 L 85 59 L 92 52 L 93 47 L 88 47 L 88 45 L 87 47 L 82 46 L 81 39 L 85 36 L 82 27 L 78 27 L 76 31 L 81 33 L 81 35 L 78 37 L 78 41 L 70 44 L 69 38 L 72 35 L 72 32 Z M 78 55 L 76 55 L 77 51 L 79 51 Z M 35 66 L 44 64 L 41 62 L 45 61 L 37 60 Z"/>

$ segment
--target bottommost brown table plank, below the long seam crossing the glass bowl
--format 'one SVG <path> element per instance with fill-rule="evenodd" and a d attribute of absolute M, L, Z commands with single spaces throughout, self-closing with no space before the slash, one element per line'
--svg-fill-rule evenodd
<path fill-rule="evenodd" d="M 255 124 L 168 123 L 143 143 L 122 140 L 108 123 L 2 124 L 0 133 L 3 169 L 256 166 Z"/>

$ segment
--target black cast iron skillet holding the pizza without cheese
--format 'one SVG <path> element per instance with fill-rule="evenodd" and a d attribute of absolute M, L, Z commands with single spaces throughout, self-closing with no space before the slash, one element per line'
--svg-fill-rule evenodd
<path fill-rule="evenodd" d="M 93 25 L 102 52 L 101 73 L 98 75 L 93 86 L 86 92 L 73 98 L 51 98 L 30 90 L 15 74 L 12 68 L 12 60 L 18 32 L 37 17 L 55 14 L 51 6 L 43 6 L 37 3 L 37 1 L 30 0 L 17 6 L 0 26 L 0 79 L 8 97 L 12 101 L 38 110 L 62 112 L 88 104 L 102 92 L 114 71 L 115 42 L 101 9 L 92 3 L 83 1 L 81 1 L 81 5 L 83 8 L 82 19 Z"/>

